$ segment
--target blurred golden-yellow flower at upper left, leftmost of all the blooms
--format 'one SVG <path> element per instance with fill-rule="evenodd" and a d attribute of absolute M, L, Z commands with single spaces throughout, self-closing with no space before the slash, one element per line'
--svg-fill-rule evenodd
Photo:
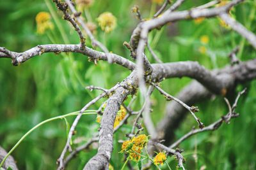
<path fill-rule="evenodd" d="M 47 29 L 53 29 L 54 26 L 50 21 L 51 15 L 47 12 L 40 12 L 36 15 L 36 32 L 38 34 L 44 34 Z"/>

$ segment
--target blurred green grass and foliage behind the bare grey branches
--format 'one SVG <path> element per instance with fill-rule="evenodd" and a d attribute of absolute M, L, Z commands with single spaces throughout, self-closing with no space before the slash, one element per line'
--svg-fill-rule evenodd
<path fill-rule="evenodd" d="M 179 10 L 186 10 L 208 1 L 186 1 Z M 96 18 L 104 11 L 110 11 L 117 18 L 115 31 L 106 34 L 98 26 L 95 37 L 104 43 L 109 51 L 118 53 L 127 59 L 129 51 L 122 45 L 129 41 L 132 30 L 138 20 L 131 13 L 137 4 L 143 18 L 152 17 L 159 5 L 148 0 L 95 0 L 90 8 L 86 8 L 83 17 L 97 25 Z M 51 13 L 54 29 L 44 34 L 36 33 L 36 14 L 40 11 Z M 232 15 L 252 32 L 256 32 L 256 2 L 245 1 L 232 10 Z M 23 52 L 29 48 L 50 43 L 79 43 L 77 34 L 70 24 L 61 19 L 50 0 L 33 1 L 0 1 L 0 46 L 9 50 Z M 164 62 L 197 60 L 208 69 L 216 69 L 229 64 L 228 53 L 237 45 L 241 50 L 240 60 L 255 58 L 255 50 L 236 32 L 220 24 L 218 18 L 202 21 L 187 20 L 164 26 L 161 30 L 150 32 L 150 45 Z M 206 40 L 205 40 L 206 39 Z M 204 41 L 205 40 L 205 41 Z M 86 45 L 91 46 L 90 40 Z M 98 49 L 99 50 L 99 49 Z M 146 52 L 150 62 L 155 62 Z M 99 92 L 84 89 L 88 85 L 113 87 L 122 81 L 130 71 L 121 66 L 109 65 L 99 61 L 97 66 L 88 62 L 81 54 L 45 53 L 24 62 L 18 67 L 11 64 L 10 59 L 0 60 L 0 145 L 10 150 L 21 136 L 43 120 L 81 109 Z M 177 94 L 191 81 L 189 78 L 164 80 L 162 87 L 170 94 Z M 237 112 L 239 118 L 229 125 L 223 125 L 218 131 L 205 132 L 189 138 L 182 143 L 187 169 L 256 169 L 256 81 L 247 83 L 248 94 L 241 97 Z M 237 87 L 237 91 L 243 89 Z M 125 101 L 128 103 L 131 97 Z M 99 108 L 106 98 L 95 104 L 92 109 Z M 152 95 L 152 119 L 154 123 L 163 117 L 166 101 L 159 92 Z M 134 104 L 134 110 L 140 109 L 140 97 Z M 222 97 L 198 104 L 200 115 L 205 125 L 211 124 L 221 115 L 227 113 L 227 106 Z M 76 138 L 85 143 L 97 133 L 99 124 L 95 115 L 84 116 L 77 127 Z M 132 120 L 132 118 L 130 118 Z M 74 117 L 67 118 L 72 124 Z M 130 120 L 130 121 L 131 121 Z M 175 132 L 177 137 L 188 132 L 195 121 L 186 118 Z M 126 139 L 124 133 L 131 131 L 131 124 L 124 125 L 115 134 L 114 151 L 111 165 L 121 169 L 124 154 L 120 151 L 118 139 Z M 56 169 L 56 160 L 66 142 L 66 125 L 64 120 L 55 120 L 36 129 L 13 152 L 19 169 Z M 93 146 L 91 151 L 84 151 L 68 164 L 67 169 L 83 169 L 84 164 L 97 152 Z M 196 153 L 196 154 L 195 154 Z M 196 156 L 195 156 L 196 155 Z M 144 162 L 145 163 L 145 162 Z M 176 169 L 175 159 L 168 158 L 172 169 Z M 132 163 L 134 164 L 134 163 Z M 135 165 L 135 164 L 134 164 Z M 152 167 L 154 169 L 154 167 Z M 167 169 L 163 166 L 163 169 Z"/>

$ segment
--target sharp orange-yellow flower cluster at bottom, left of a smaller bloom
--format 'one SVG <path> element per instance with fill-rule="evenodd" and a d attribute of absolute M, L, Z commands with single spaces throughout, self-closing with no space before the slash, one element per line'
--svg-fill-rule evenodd
<path fill-rule="evenodd" d="M 122 145 L 121 153 L 129 153 L 129 157 L 132 160 L 139 161 L 143 148 L 148 143 L 148 136 L 140 134 L 139 136 L 133 137 L 130 140 L 124 141 Z"/>

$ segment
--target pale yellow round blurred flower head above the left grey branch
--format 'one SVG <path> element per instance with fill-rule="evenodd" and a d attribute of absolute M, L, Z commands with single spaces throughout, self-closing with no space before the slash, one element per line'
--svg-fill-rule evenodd
<path fill-rule="evenodd" d="M 97 18 L 102 31 L 111 32 L 116 27 L 116 17 L 110 12 L 104 12 Z"/>

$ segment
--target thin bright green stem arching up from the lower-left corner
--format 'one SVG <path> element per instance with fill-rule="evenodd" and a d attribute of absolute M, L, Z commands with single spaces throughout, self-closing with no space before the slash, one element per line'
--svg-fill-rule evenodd
<path fill-rule="evenodd" d="M 1 164 L 0 164 L 0 167 L 3 166 L 4 164 L 4 161 L 7 159 L 7 157 L 9 155 L 11 155 L 11 153 L 17 148 L 17 146 L 20 145 L 20 143 L 31 133 L 33 132 L 35 129 L 37 129 L 38 127 L 40 127 L 41 125 L 44 125 L 46 124 L 47 122 L 51 122 L 52 120 L 57 120 L 57 119 L 62 119 L 62 118 L 65 118 L 65 117 L 70 117 L 70 116 L 74 116 L 74 115 L 78 115 L 79 114 L 79 111 L 74 111 L 74 112 L 71 112 L 71 113 L 67 113 L 66 115 L 61 115 L 61 116 L 58 116 L 58 117 L 53 117 L 53 118 L 49 118 L 47 120 L 44 120 L 43 122 L 40 122 L 39 124 L 35 125 L 32 129 L 30 129 L 28 132 L 26 132 L 26 134 L 24 134 L 24 136 L 22 136 L 19 141 L 12 147 L 12 149 L 5 155 L 4 159 L 2 160 Z M 83 115 L 97 115 L 96 111 L 95 110 L 86 110 L 84 111 Z"/>

